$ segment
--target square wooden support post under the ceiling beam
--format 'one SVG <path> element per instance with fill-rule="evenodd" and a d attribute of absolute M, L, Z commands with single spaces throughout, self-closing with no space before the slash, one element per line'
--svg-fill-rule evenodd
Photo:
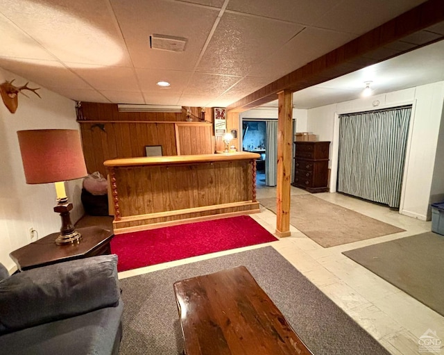
<path fill-rule="evenodd" d="M 290 233 L 291 145 L 293 145 L 293 93 L 278 92 L 278 185 L 276 188 L 276 234 Z"/>

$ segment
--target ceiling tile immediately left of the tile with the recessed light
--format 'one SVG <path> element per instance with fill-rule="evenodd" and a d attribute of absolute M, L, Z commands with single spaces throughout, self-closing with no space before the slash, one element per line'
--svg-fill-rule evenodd
<path fill-rule="evenodd" d="M 71 66 L 71 63 L 67 63 Z M 96 90 L 129 91 L 139 90 L 133 68 L 87 65 L 71 68 Z"/>

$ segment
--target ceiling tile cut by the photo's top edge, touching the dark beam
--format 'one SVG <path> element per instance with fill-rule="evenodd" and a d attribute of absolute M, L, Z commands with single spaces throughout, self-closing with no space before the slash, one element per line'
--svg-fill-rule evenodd
<path fill-rule="evenodd" d="M 424 0 L 343 0 L 325 15 L 316 19 L 313 24 L 335 31 L 362 35 L 422 2 Z"/>

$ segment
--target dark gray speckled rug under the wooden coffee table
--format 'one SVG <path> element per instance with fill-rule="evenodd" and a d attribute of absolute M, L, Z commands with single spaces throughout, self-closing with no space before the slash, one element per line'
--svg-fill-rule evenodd
<path fill-rule="evenodd" d="M 121 280 L 121 355 L 177 355 L 182 332 L 173 283 L 244 265 L 315 355 L 389 353 L 273 247 L 242 251 Z"/>

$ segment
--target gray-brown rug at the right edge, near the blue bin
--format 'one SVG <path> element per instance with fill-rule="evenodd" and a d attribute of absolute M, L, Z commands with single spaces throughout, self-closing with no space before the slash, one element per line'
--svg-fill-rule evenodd
<path fill-rule="evenodd" d="M 343 254 L 444 315 L 444 236 L 422 233 Z"/>

